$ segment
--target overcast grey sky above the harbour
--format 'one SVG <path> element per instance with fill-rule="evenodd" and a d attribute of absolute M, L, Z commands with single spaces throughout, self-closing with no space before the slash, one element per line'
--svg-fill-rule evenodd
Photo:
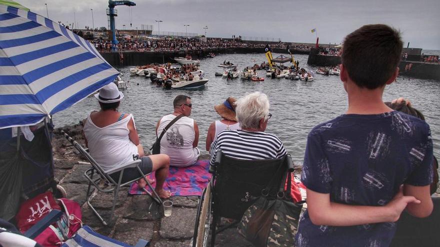
<path fill-rule="evenodd" d="M 15 0 L 53 21 L 79 28 L 107 27 L 107 0 Z M 440 50 L 440 0 L 133 0 L 116 6 L 116 28 L 160 22 L 160 31 L 208 37 L 269 38 L 286 42 L 339 44 L 364 24 L 384 23 L 401 31 L 404 46 Z M 47 12 L 46 5 L 47 3 Z M 92 8 L 93 10 L 90 10 Z M 131 17 L 130 17 L 131 16 Z M 207 29 L 203 27 L 207 26 Z M 108 27 L 107 27 L 108 28 Z M 311 29 L 316 28 L 316 33 Z"/>

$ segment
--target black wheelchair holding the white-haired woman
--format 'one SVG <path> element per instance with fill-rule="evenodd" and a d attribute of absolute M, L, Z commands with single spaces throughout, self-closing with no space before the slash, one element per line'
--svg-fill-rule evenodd
<path fill-rule="evenodd" d="M 225 156 L 219 150 L 209 172 L 212 179 L 200 196 L 192 247 L 214 246 L 215 235 L 237 225 L 256 198 L 276 196 L 281 180 L 293 172 L 293 163 L 290 155 L 273 160 L 241 160 Z M 266 190 L 271 180 L 277 186 Z M 217 228 L 220 217 L 235 222 Z"/>

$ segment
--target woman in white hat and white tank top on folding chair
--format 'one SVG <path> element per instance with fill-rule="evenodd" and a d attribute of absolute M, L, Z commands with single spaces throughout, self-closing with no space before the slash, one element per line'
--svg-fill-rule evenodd
<path fill-rule="evenodd" d="M 169 157 L 165 154 L 144 156 L 143 148 L 139 143 L 131 114 L 117 111 L 123 94 L 114 83 L 109 83 L 94 95 L 99 101 L 100 111 L 91 112 L 84 123 L 83 132 L 85 144 L 90 156 L 99 164 L 104 172 L 112 168 L 121 167 L 138 156 L 141 163 L 138 165 L 143 174 L 155 171 L 155 191 L 160 198 L 169 198 L 170 192 L 163 190 L 163 181 L 168 175 Z M 120 172 L 109 174 L 117 181 Z M 136 167 L 126 168 L 122 174 L 122 182 L 135 180 L 140 177 Z M 137 180 L 139 188 L 146 182 Z M 150 183 L 154 181 L 149 181 Z"/>

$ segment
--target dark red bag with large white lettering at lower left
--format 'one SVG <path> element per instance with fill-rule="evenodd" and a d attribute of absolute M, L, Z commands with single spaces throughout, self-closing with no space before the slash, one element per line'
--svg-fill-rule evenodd
<path fill-rule="evenodd" d="M 17 227 L 21 233 L 26 232 L 35 223 L 47 215 L 52 209 L 61 210 L 51 192 L 39 194 L 38 196 L 23 202 L 18 214 L 15 216 Z"/>

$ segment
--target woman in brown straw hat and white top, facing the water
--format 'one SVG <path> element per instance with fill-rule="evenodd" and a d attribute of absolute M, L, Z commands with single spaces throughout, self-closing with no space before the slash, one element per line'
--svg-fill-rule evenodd
<path fill-rule="evenodd" d="M 217 135 L 226 129 L 237 130 L 240 126 L 235 118 L 235 98 L 228 97 L 222 104 L 214 106 L 215 111 L 221 116 L 221 120 L 211 123 L 206 135 L 206 151 L 209 152 L 211 143 Z"/>

